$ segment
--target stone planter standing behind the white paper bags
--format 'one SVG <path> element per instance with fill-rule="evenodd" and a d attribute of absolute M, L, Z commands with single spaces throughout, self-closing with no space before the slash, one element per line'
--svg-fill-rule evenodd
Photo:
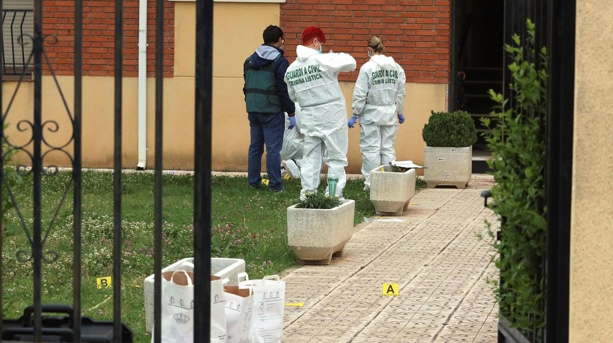
<path fill-rule="evenodd" d="M 170 266 L 162 269 L 162 273 L 165 271 L 177 270 L 184 262 L 194 263 L 194 258 L 183 258 Z M 226 283 L 228 286 L 238 285 L 238 274 L 245 272 L 245 260 L 240 258 L 211 258 L 211 274 L 221 277 L 221 279 L 228 279 Z M 151 333 L 153 330 L 153 284 L 155 281 L 154 275 L 150 275 L 145 278 L 145 324 L 147 326 L 147 332 Z"/>

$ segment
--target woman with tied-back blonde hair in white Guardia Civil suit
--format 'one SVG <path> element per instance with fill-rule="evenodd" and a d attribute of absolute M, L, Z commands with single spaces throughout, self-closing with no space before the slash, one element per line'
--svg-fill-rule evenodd
<path fill-rule="evenodd" d="M 353 91 L 353 128 L 360 121 L 360 152 L 364 190 L 370 189 L 370 171 L 396 160 L 394 145 L 398 124 L 405 122 L 405 71 L 394 58 L 383 55 L 381 37 L 368 40 L 370 61 L 360 68 Z"/>

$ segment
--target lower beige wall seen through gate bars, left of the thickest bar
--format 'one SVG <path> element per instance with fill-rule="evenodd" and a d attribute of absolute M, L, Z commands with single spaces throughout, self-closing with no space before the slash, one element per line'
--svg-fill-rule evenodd
<path fill-rule="evenodd" d="M 74 104 L 72 76 L 59 76 L 59 83 L 72 109 Z M 113 78 L 83 77 L 83 166 L 104 168 L 113 166 Z M 6 109 L 16 82 L 2 85 L 2 104 Z M 194 79 L 164 79 L 164 160 L 167 168 L 191 168 L 194 150 Z M 154 79 L 147 80 L 147 153 L 148 166 L 154 158 Z M 190 91 L 185 91 L 190 90 Z M 21 119 L 32 120 L 34 83 L 23 83 L 15 102 L 7 113 L 8 135 L 11 142 L 23 144 L 31 137 L 31 131 L 17 131 Z M 69 140 L 72 128 L 67 112 L 50 76 L 43 77 L 44 94 L 42 120 L 56 120 L 59 130 L 53 133 L 44 130 L 45 138 L 52 145 L 61 145 Z M 135 77 L 123 79 L 123 165 L 136 168 L 138 162 L 138 80 Z M 185 107 L 177 106 L 176 99 L 185 101 Z M 51 128 L 51 126 L 47 126 Z M 44 145 L 43 145 L 44 147 Z M 31 147 L 29 148 L 31 151 Z M 68 152 L 72 154 L 72 145 Z M 25 155 L 15 156 L 17 161 L 29 164 Z M 50 153 L 45 164 L 69 166 L 69 161 L 59 152 Z"/>

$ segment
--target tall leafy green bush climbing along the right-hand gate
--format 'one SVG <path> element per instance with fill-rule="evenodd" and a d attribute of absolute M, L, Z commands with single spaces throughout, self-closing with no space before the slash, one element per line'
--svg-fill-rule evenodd
<path fill-rule="evenodd" d="M 535 52 L 535 24 L 527 21 L 525 45 L 513 36 L 514 45 L 504 50 L 511 56 L 509 85 L 514 102 L 490 90 L 498 111 L 493 120 L 482 118 L 492 132 L 485 135 L 492 150 L 488 161 L 496 185 L 490 207 L 500 217 L 501 241 L 496 266 L 500 285 L 494 293 L 505 317 L 532 342 L 542 339 L 545 322 L 544 256 L 547 251 L 547 221 L 544 205 L 543 137 L 547 111 L 547 51 Z M 490 223 L 488 223 L 490 227 Z M 489 234 L 494 237 L 490 229 Z M 495 280 L 490 281 L 497 284 Z M 555 287 L 555 285 L 552 285 Z"/>

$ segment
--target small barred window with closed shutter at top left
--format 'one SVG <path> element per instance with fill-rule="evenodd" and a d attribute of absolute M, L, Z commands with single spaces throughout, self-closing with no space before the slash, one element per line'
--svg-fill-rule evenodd
<path fill-rule="evenodd" d="M 4 75 L 31 74 L 32 44 L 26 35 L 32 35 L 34 12 L 31 9 L 3 9 L 2 31 L 2 72 Z"/>

